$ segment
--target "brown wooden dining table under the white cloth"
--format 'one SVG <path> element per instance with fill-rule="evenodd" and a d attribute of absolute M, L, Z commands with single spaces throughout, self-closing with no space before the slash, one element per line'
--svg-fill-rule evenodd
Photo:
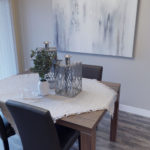
<path fill-rule="evenodd" d="M 115 91 L 115 93 L 117 93 L 116 99 L 114 101 L 114 111 L 113 111 L 113 114 L 111 115 L 111 125 L 110 125 L 110 141 L 115 142 L 116 137 L 117 137 L 117 123 L 118 123 L 119 97 L 120 97 L 121 85 L 119 83 L 112 83 L 112 82 L 106 82 L 106 81 L 96 81 L 96 82 L 98 82 L 98 84 L 106 85 L 111 90 Z M 0 83 L 5 84 L 5 82 L 0 82 Z M 0 95 L 2 94 L 3 93 L 0 92 Z M 2 112 L 4 113 L 5 117 L 9 120 L 9 117 L 7 116 L 8 112 L 6 112 L 6 110 L 3 109 L 4 102 L 2 102 L 1 100 L 0 100 L 0 107 L 2 108 Z M 80 144 L 81 150 L 95 150 L 96 149 L 97 125 L 102 120 L 103 116 L 105 115 L 107 111 L 108 111 L 107 109 L 101 109 L 101 110 L 91 110 L 91 111 L 83 112 L 83 113 L 76 113 L 76 114 L 72 114 L 68 116 L 64 115 L 63 117 L 55 120 L 55 123 L 65 126 L 65 127 L 75 129 L 80 132 L 79 144 Z M 9 121 L 11 123 L 11 120 Z"/>

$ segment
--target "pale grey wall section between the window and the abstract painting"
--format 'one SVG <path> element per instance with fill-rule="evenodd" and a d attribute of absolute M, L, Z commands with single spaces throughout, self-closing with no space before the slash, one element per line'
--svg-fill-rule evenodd
<path fill-rule="evenodd" d="M 30 67 L 30 50 L 51 41 L 51 0 L 16 0 L 20 24 L 24 69 Z"/>

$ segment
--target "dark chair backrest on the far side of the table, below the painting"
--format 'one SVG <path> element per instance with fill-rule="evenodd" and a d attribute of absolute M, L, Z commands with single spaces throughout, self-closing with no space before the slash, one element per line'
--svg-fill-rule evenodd
<path fill-rule="evenodd" d="M 82 77 L 88 79 L 102 80 L 103 67 L 82 64 Z"/>

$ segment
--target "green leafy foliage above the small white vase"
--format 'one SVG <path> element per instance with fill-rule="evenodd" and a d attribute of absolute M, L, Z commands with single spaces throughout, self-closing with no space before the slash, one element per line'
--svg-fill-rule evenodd
<path fill-rule="evenodd" d="M 31 51 L 31 59 L 34 63 L 34 67 L 31 68 L 31 71 L 38 73 L 41 81 L 46 81 L 45 75 L 49 73 L 52 65 L 52 58 L 49 52 L 44 48 L 37 48 Z"/>

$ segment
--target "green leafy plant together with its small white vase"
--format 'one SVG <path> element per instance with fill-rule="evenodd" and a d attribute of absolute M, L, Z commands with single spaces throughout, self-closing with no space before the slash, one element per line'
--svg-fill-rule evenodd
<path fill-rule="evenodd" d="M 45 48 L 35 49 L 31 52 L 31 59 L 34 67 L 31 71 L 39 74 L 38 92 L 41 96 L 46 96 L 49 93 L 49 84 L 46 81 L 46 74 L 49 73 L 52 61 L 48 51 Z"/>

